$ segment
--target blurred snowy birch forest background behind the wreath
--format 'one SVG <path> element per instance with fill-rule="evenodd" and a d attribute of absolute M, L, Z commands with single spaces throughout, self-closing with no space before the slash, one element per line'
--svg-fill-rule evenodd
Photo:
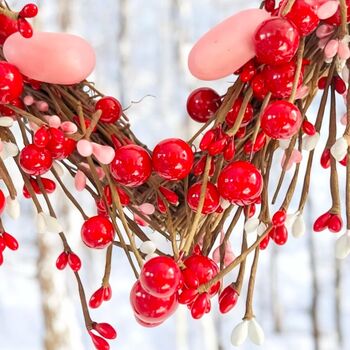
<path fill-rule="evenodd" d="M 23 3 L 9 1 L 16 9 Z M 124 107 L 150 95 L 128 111 L 133 130 L 150 146 L 169 136 L 189 138 L 198 127 L 185 111 L 188 93 L 202 85 L 187 70 L 191 45 L 237 10 L 258 6 L 252 0 L 42 0 L 37 4 L 37 30 L 76 33 L 93 45 L 97 66 L 91 79 L 100 90 L 119 98 Z M 224 93 L 230 82 L 228 78 L 205 85 Z M 309 118 L 314 120 L 315 115 L 311 112 Z M 340 175 L 344 184 L 344 168 Z M 305 212 L 309 228 L 312 218 L 330 207 L 328 176 L 327 171 L 315 168 L 313 195 Z M 290 174 L 286 183 L 289 179 Z M 65 180 L 71 184 L 69 177 Z M 93 214 L 88 198 L 83 196 L 81 201 Z M 99 287 L 104 256 L 82 246 L 80 217 L 62 202 L 57 194 L 55 208 L 65 216 L 68 238 L 83 259 L 82 277 L 90 296 Z M 69 269 L 56 272 L 54 267 L 61 243 L 57 237 L 36 234 L 33 214 L 33 207 L 23 200 L 19 222 L 4 218 L 5 227 L 17 236 L 21 249 L 6 254 L 0 268 L 0 350 L 92 349 L 84 332 L 73 276 Z M 235 232 L 232 244 L 238 253 L 241 231 Z M 309 229 L 300 240 L 291 237 L 285 247 L 271 245 L 261 254 L 254 302 L 257 320 L 266 332 L 261 349 L 350 348 L 350 262 L 336 262 L 335 238 L 329 232 L 316 235 Z M 159 328 L 144 329 L 133 319 L 128 302 L 132 273 L 117 250 L 111 281 L 112 301 L 92 315 L 117 327 L 118 340 L 112 349 L 232 348 L 230 333 L 243 316 L 244 291 L 239 305 L 228 315 L 220 316 L 213 310 L 201 321 L 193 321 L 187 310 L 180 308 Z M 255 348 L 249 341 L 242 346 Z"/>

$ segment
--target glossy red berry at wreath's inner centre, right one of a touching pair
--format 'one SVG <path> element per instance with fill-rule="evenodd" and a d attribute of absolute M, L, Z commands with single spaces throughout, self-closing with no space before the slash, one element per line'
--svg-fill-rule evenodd
<path fill-rule="evenodd" d="M 166 180 L 181 180 L 191 171 L 193 152 L 191 147 L 180 139 L 166 139 L 153 150 L 153 167 L 159 176 Z"/>

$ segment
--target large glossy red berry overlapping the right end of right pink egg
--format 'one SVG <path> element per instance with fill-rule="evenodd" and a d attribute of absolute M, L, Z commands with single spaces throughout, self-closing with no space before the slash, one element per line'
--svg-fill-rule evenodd
<path fill-rule="evenodd" d="M 281 17 L 268 19 L 255 32 L 254 44 L 258 60 L 265 64 L 291 61 L 298 50 L 300 35 L 295 25 Z"/>

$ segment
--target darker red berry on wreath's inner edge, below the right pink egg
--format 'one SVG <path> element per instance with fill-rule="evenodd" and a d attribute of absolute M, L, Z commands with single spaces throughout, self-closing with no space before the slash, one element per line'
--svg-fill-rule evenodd
<path fill-rule="evenodd" d="M 210 88 L 199 88 L 191 92 L 187 99 L 187 112 L 199 123 L 206 123 L 221 105 L 219 94 Z"/>

